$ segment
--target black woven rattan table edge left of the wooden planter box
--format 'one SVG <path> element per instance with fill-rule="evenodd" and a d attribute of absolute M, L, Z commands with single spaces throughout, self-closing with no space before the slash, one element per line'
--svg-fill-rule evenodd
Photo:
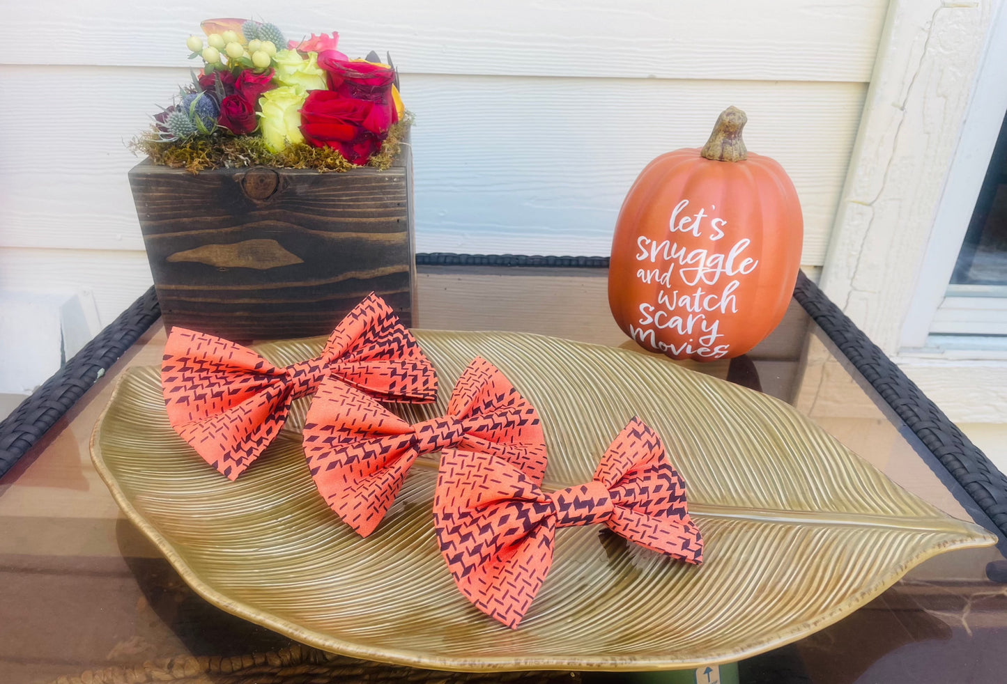
<path fill-rule="evenodd" d="M 160 316 L 161 308 L 151 287 L 0 422 L 0 476 L 10 470 Z"/>

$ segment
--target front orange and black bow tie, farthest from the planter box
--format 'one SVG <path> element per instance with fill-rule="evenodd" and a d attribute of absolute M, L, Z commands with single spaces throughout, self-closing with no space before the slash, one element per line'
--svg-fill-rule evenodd
<path fill-rule="evenodd" d="M 675 558 L 703 560 L 685 483 L 661 439 L 636 418 L 612 442 L 591 482 L 549 494 L 493 454 L 441 455 L 434 495 L 441 555 L 461 592 L 512 629 L 549 574 L 556 528 L 592 523 Z"/>

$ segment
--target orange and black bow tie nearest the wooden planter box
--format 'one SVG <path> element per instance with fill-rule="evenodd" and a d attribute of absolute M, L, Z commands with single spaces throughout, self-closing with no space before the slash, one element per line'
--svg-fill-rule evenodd
<path fill-rule="evenodd" d="M 279 368 L 240 344 L 172 328 L 161 365 L 171 425 L 231 480 L 273 441 L 291 401 L 343 383 L 387 401 L 437 397 L 433 365 L 374 293 L 339 322 L 317 358 Z"/>

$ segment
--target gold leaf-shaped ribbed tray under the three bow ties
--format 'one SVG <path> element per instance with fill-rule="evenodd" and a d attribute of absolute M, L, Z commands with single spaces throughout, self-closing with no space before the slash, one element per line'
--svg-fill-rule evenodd
<path fill-rule="evenodd" d="M 436 462 L 414 466 L 367 539 L 318 495 L 298 400 L 236 482 L 168 424 L 158 368 L 127 370 L 92 454 L 116 501 L 207 601 L 298 641 L 446 670 L 685 669 L 754 655 L 820 630 L 910 567 L 995 537 L 905 492 L 790 406 L 649 355 L 518 333 L 416 332 L 446 409 L 476 355 L 538 407 L 546 489 L 589 480 L 633 415 L 655 428 L 688 483 L 705 539 L 696 567 L 599 528 L 558 530 L 555 560 L 521 628 L 475 610 L 441 559 Z M 258 347 L 275 363 L 321 338 Z"/>

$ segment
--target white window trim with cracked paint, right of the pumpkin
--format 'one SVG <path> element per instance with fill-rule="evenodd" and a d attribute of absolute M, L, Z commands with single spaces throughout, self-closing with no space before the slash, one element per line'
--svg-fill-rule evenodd
<path fill-rule="evenodd" d="M 925 349 L 1007 110 L 1004 4 L 888 7 L 820 285 L 891 357 Z"/>

